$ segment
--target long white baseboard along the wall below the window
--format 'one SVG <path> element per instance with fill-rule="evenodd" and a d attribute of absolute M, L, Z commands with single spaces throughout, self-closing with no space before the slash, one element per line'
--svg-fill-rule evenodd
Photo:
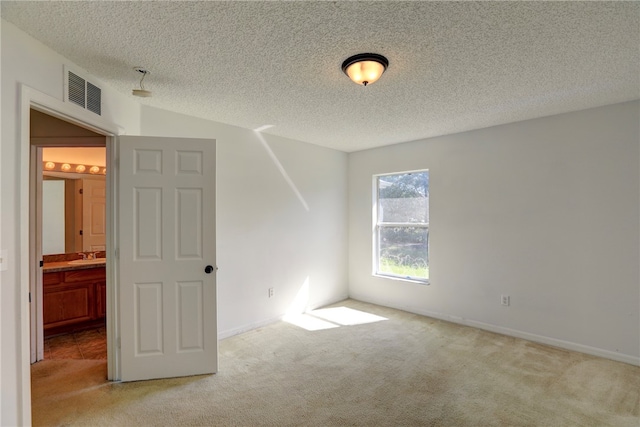
<path fill-rule="evenodd" d="M 444 313 L 433 312 L 429 310 L 422 310 L 415 307 L 396 306 L 390 304 L 388 301 L 375 301 L 375 299 L 363 297 L 361 295 L 352 295 L 351 298 L 368 302 L 371 304 L 381 305 L 383 307 L 395 308 L 398 310 L 408 311 L 410 313 L 420 314 L 422 316 L 432 317 L 434 319 L 445 320 L 451 323 L 457 323 L 459 325 L 471 326 L 473 328 L 483 329 L 489 332 L 495 332 L 510 337 L 522 338 L 528 341 L 537 342 L 540 344 L 547 344 L 554 347 L 559 347 L 565 350 L 577 351 L 579 353 L 585 353 L 592 356 L 603 357 L 605 359 L 615 360 L 617 362 L 628 363 L 630 365 L 640 366 L 640 357 L 632 356 L 630 354 L 617 353 L 615 351 L 604 350 L 597 347 L 591 347 L 588 345 L 578 344 L 571 341 L 560 340 L 557 338 L 546 337 L 544 335 L 532 334 L 529 332 L 519 331 L 516 329 L 505 328 L 503 326 L 492 325 L 490 323 L 479 322 L 477 320 L 465 319 L 459 316 L 452 316 Z"/>

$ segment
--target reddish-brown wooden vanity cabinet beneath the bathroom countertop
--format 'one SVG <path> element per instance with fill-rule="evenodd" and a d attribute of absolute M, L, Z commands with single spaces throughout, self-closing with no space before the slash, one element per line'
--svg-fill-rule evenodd
<path fill-rule="evenodd" d="M 44 273 L 42 282 L 45 337 L 104 324 L 104 267 Z"/>

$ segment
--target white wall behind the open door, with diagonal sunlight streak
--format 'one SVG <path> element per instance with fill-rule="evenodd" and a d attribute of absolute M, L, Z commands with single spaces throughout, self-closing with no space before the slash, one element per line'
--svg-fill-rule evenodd
<path fill-rule="evenodd" d="M 282 316 L 305 283 L 302 306 L 347 297 L 347 154 L 151 107 L 141 130 L 217 141 L 220 337 Z"/>

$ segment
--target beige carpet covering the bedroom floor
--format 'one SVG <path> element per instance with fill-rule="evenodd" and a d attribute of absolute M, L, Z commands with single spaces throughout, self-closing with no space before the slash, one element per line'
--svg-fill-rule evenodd
<path fill-rule="evenodd" d="M 274 323 L 221 341 L 209 376 L 109 383 L 105 362 L 43 361 L 33 424 L 640 425 L 638 367 L 353 300 L 333 307 L 387 320 L 319 318 L 337 310 L 307 319 L 331 329 Z"/>

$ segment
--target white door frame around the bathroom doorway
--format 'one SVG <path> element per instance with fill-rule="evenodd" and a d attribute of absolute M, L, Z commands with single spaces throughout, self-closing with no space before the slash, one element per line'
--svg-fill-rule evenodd
<path fill-rule="evenodd" d="M 106 137 L 107 151 L 107 377 L 119 379 L 119 348 L 116 337 L 119 336 L 118 298 L 117 298 L 117 258 L 116 258 L 116 212 L 117 212 L 117 178 L 116 156 L 117 136 L 124 134 L 124 129 L 117 124 L 83 110 L 75 105 L 65 103 L 27 85 L 20 85 L 19 121 L 19 296 L 18 313 L 20 319 L 20 340 L 18 348 L 18 413 L 20 424 L 31 425 L 31 334 L 35 325 L 31 325 L 30 293 L 36 289 L 36 277 L 40 273 L 39 260 L 36 259 L 35 232 L 36 212 L 31 209 L 35 198 L 35 185 L 31 179 L 31 141 L 30 110 L 34 109 L 55 118 L 89 129 Z M 33 292 L 33 296 L 37 296 Z M 35 331 L 34 331 L 35 333 Z"/>

